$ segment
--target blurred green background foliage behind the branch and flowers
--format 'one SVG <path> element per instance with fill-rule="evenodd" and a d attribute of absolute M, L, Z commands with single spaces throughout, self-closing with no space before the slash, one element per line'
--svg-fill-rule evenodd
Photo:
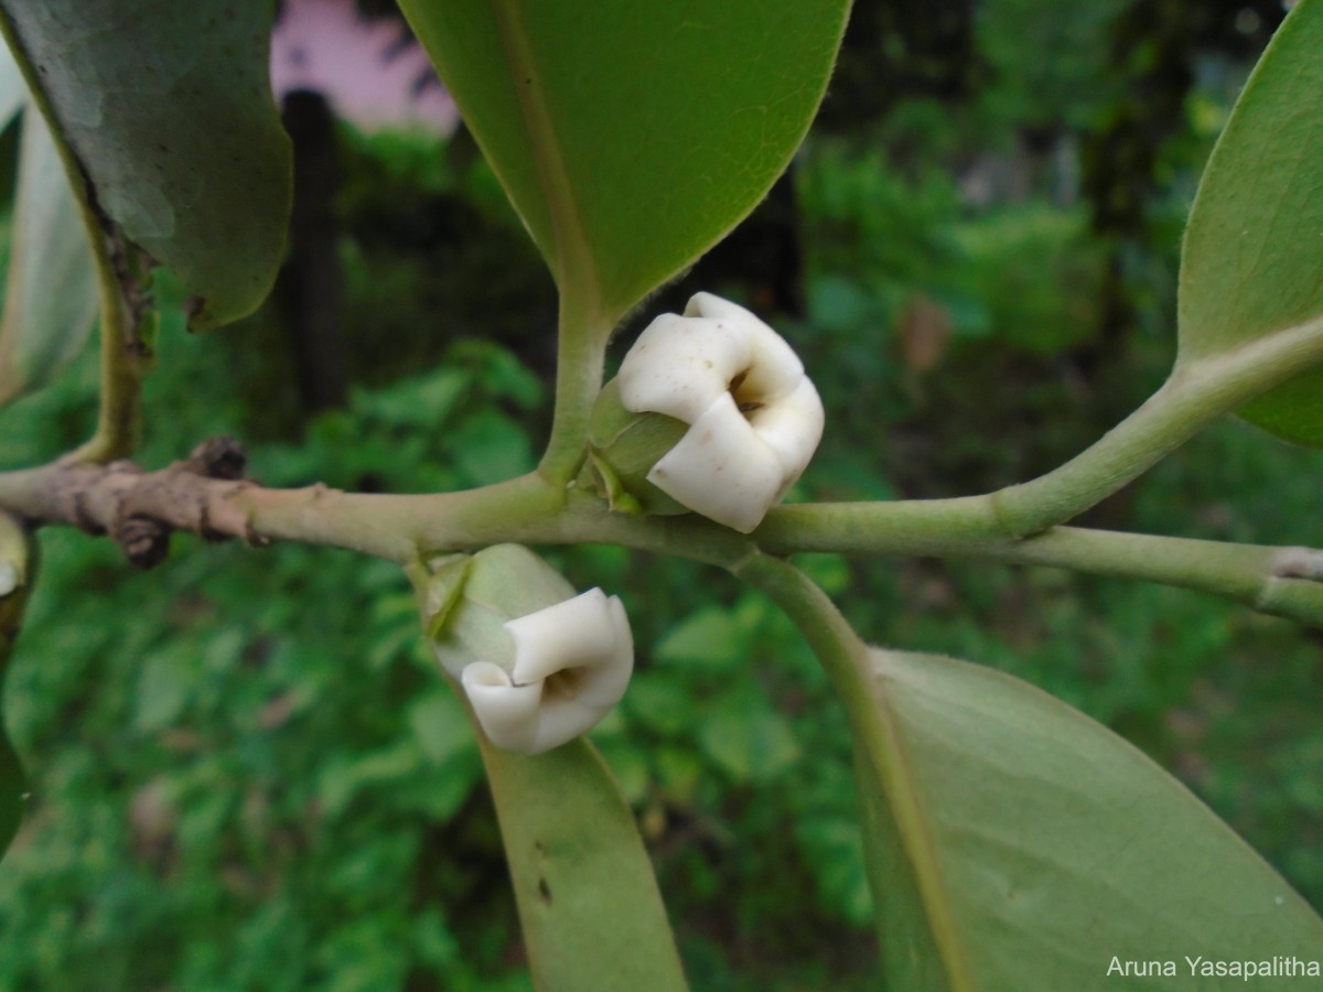
<path fill-rule="evenodd" d="M 978 63 L 935 95 L 941 66 L 896 26 L 905 4 L 860 21 L 880 34 L 855 44 L 913 86 L 853 124 L 828 102 L 832 134 L 796 161 L 807 310 L 782 323 L 828 433 L 795 497 L 1021 480 L 1160 381 L 1180 218 L 1253 53 L 1191 34 L 1184 116 L 1155 144 L 1142 229 L 1118 231 L 1085 194 L 1082 156 L 1162 61 L 1152 45 L 1139 69 L 1118 61 L 1142 5 L 978 4 Z M 304 415 L 274 308 L 206 339 L 176 319 L 142 460 L 229 433 L 271 485 L 450 489 L 528 470 L 553 296 L 490 173 L 462 142 L 345 134 L 339 151 L 348 405 Z M 5 411 L 0 466 L 82 440 L 94 390 L 87 356 Z M 1088 522 L 1319 545 L 1320 472 L 1323 455 L 1225 423 Z M 0 988 L 527 987 L 476 749 L 402 575 L 331 550 L 176 541 L 136 574 L 108 542 L 42 534 L 7 690 L 34 799 L 0 862 Z M 593 737 L 695 988 L 869 988 L 848 730 L 790 623 L 684 562 L 548 554 L 630 611 L 639 671 Z M 1315 634 L 1050 570 L 803 563 L 868 640 L 1000 667 L 1114 726 L 1323 905 Z"/>

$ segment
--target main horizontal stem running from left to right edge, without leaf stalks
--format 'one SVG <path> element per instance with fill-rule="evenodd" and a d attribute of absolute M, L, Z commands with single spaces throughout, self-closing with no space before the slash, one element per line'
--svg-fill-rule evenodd
<path fill-rule="evenodd" d="M 101 471 L 101 470 L 98 470 Z M 70 489 L 91 470 L 67 463 L 0 472 L 0 508 L 34 524 L 82 524 Z M 898 503 L 800 504 L 751 536 L 696 515 L 613 513 L 594 495 L 532 474 L 482 489 L 430 495 L 347 493 L 323 485 L 263 489 L 198 479 L 213 529 L 254 541 L 348 548 L 398 562 L 419 553 L 503 541 L 615 544 L 738 569 L 762 553 L 972 558 L 1046 565 L 1209 593 L 1262 612 L 1323 626 L 1323 552 L 1057 526 L 1027 538 L 1000 530 L 986 496 Z"/>

